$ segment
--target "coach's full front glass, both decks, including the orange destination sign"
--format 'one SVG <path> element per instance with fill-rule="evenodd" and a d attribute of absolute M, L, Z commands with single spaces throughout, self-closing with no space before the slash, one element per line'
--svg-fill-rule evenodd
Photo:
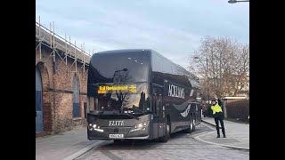
<path fill-rule="evenodd" d="M 90 60 L 88 72 L 87 95 L 94 98 L 94 110 L 128 114 L 151 112 L 148 54 L 97 54 Z"/>

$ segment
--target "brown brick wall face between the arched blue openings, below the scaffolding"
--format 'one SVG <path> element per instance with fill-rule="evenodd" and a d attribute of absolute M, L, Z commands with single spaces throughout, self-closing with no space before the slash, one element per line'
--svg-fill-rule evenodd
<path fill-rule="evenodd" d="M 36 65 L 42 75 L 43 82 L 43 118 L 45 132 L 61 132 L 69 130 L 72 126 L 85 124 L 84 102 L 86 101 L 87 72 L 83 71 L 82 63 L 77 61 L 77 73 L 75 73 L 74 60 L 65 60 L 56 54 L 56 72 L 53 74 L 53 52 L 48 47 L 42 45 L 42 60 L 39 59 L 39 48 L 36 50 Z M 44 64 L 46 68 L 44 67 Z M 77 74 L 79 86 L 80 116 L 82 119 L 73 118 L 73 88 L 72 81 Z"/>

